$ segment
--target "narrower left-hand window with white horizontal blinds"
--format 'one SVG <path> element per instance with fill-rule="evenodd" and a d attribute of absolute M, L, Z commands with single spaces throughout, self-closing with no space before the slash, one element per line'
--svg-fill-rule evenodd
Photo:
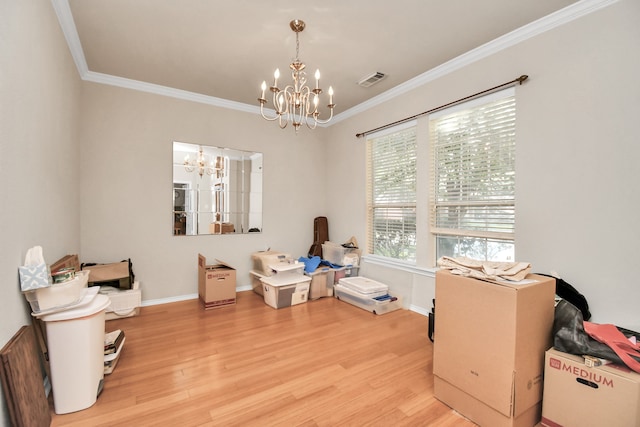
<path fill-rule="evenodd" d="M 416 261 L 416 127 L 367 140 L 368 252 Z"/>

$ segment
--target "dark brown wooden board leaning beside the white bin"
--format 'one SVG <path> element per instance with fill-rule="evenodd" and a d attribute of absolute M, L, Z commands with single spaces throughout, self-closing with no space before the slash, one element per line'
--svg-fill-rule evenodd
<path fill-rule="evenodd" d="M 51 424 L 39 355 L 32 326 L 20 328 L 0 350 L 2 387 L 11 424 L 17 427 Z"/>

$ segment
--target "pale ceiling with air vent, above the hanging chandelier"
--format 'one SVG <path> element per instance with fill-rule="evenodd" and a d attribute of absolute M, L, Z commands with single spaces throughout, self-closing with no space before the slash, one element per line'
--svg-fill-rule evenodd
<path fill-rule="evenodd" d="M 342 115 L 610 2 L 52 0 L 83 79 L 247 111 L 275 68 L 290 80 L 302 19 L 300 59 Z"/>

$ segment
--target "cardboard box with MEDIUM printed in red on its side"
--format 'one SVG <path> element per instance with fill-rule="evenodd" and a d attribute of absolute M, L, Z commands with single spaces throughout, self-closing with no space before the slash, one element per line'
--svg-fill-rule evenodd
<path fill-rule="evenodd" d="M 542 425 L 640 426 L 640 374 L 613 364 L 588 367 L 582 356 L 548 350 Z"/>

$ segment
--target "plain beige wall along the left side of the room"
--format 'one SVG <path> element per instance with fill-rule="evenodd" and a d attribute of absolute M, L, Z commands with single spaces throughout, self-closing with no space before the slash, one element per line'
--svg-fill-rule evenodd
<path fill-rule="evenodd" d="M 80 79 L 51 4 L 0 1 L 0 347 L 31 323 L 18 266 L 80 249 Z M 9 415 L 0 390 L 0 425 Z"/>

